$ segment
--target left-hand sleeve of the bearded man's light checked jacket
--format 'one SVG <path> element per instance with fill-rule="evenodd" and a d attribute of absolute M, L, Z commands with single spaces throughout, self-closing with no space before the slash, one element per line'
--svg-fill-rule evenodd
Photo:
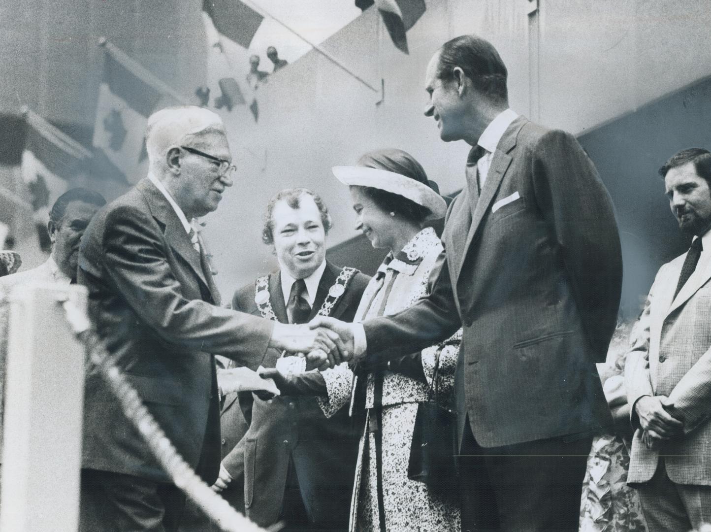
<path fill-rule="evenodd" d="M 649 289 L 644 310 L 632 328 L 630 334 L 631 349 L 625 358 L 624 374 L 627 404 L 629 404 L 630 409 L 630 422 L 635 428 L 640 427 L 639 417 L 634 409 L 635 404 L 644 395 L 654 395 L 652 381 L 649 376 L 649 312 L 654 300 L 655 287 L 661 275 L 662 270 L 659 270 L 656 280 L 653 282 L 651 289 Z"/>

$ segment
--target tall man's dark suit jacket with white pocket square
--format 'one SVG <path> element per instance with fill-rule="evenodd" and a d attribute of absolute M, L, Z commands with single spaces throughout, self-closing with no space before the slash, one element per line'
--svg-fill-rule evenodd
<path fill-rule="evenodd" d="M 442 240 L 447 260 L 429 297 L 365 323 L 368 357 L 421 349 L 463 326 L 459 428 L 469 415 L 483 447 L 611 424 L 594 363 L 616 324 L 619 234 L 574 137 L 515 119 L 479 201 L 464 188 Z"/>

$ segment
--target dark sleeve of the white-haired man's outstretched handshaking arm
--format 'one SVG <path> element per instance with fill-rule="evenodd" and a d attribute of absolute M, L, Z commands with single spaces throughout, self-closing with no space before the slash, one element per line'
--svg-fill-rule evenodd
<path fill-rule="evenodd" d="M 186 299 L 149 213 L 117 208 L 107 215 L 102 250 L 111 281 L 134 312 L 169 344 L 223 354 L 255 368 L 269 344 L 266 319 Z"/>

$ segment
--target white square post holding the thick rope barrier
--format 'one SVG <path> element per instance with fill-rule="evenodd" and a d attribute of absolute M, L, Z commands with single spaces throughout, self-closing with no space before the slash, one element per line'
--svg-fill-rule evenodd
<path fill-rule="evenodd" d="M 68 298 L 86 309 L 86 289 L 77 285 L 10 294 L 3 531 L 77 531 L 85 352 L 65 318 Z"/>

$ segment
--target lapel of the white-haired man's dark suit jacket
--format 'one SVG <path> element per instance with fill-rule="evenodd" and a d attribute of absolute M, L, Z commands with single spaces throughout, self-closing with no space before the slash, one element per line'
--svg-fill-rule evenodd
<path fill-rule="evenodd" d="M 193 248 L 190 237 L 183 228 L 178 215 L 173 211 L 171 204 L 149 179 L 139 181 L 137 188 L 148 201 L 151 215 L 163 225 L 163 234 L 171 248 L 190 265 L 198 279 L 209 290 L 210 285 L 205 279 L 203 268 L 200 265 L 200 253 Z"/>

